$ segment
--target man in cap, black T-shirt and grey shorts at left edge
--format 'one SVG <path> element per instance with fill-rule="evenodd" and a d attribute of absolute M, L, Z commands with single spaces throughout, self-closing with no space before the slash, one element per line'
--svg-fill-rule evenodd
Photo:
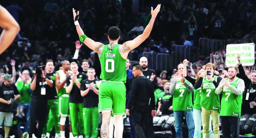
<path fill-rule="evenodd" d="M 4 138 L 9 137 L 10 128 L 13 123 L 13 112 L 7 111 L 12 104 L 12 99 L 17 100 L 20 95 L 17 87 L 12 83 L 11 75 L 4 76 L 4 82 L 0 86 L 0 124 L 4 122 Z"/>

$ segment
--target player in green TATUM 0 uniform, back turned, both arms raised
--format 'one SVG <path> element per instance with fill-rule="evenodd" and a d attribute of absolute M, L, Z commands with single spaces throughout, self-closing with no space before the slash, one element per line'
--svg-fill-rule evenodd
<path fill-rule="evenodd" d="M 109 122 L 111 112 L 114 115 L 114 137 L 122 138 L 123 122 L 122 116 L 125 115 L 125 85 L 126 82 L 126 59 L 129 51 L 138 47 L 143 41 L 149 37 L 153 28 L 154 21 L 161 4 L 158 4 L 155 10 L 151 7 L 151 19 L 149 24 L 141 35 L 134 40 L 118 44 L 120 39 L 120 29 L 118 27 L 110 27 L 108 30 L 109 44 L 104 45 L 95 42 L 87 37 L 78 23 L 79 11 L 75 12 L 73 8 L 74 23 L 77 28 L 79 39 L 86 46 L 99 55 L 101 65 L 100 79 L 102 82 L 99 86 L 99 113 L 102 113 L 102 126 L 100 135 L 102 138 L 109 137 Z"/>

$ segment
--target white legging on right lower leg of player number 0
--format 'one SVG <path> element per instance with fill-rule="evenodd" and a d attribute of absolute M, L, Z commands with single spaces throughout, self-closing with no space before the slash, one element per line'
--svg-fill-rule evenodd
<path fill-rule="evenodd" d="M 122 138 L 122 133 L 124 131 L 124 120 L 122 115 L 114 115 L 114 138 Z"/>

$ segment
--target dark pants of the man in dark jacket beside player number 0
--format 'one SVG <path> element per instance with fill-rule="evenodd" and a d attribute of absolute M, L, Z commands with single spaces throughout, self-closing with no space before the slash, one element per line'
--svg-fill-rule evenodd
<path fill-rule="evenodd" d="M 153 117 L 151 111 L 132 110 L 136 138 L 154 138 Z"/>

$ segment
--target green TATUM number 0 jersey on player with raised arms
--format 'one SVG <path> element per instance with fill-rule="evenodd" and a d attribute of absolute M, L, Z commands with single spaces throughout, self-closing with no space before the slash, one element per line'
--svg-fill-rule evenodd
<path fill-rule="evenodd" d="M 126 83 L 126 59 L 123 59 L 119 53 L 119 44 L 116 44 L 112 50 L 109 45 L 104 45 L 100 55 L 101 74 L 100 79 L 107 81 L 122 81 Z"/>

